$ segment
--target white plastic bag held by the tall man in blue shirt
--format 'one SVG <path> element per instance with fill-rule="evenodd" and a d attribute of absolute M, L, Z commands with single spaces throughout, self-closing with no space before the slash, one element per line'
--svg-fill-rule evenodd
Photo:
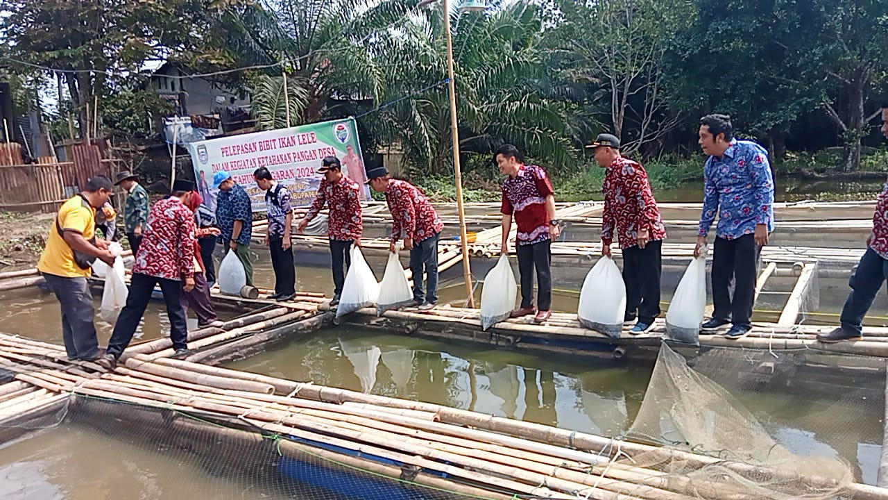
<path fill-rule="evenodd" d="M 700 345 L 700 326 L 706 314 L 706 254 L 708 249 L 703 246 L 678 282 L 666 312 L 667 338 Z"/>

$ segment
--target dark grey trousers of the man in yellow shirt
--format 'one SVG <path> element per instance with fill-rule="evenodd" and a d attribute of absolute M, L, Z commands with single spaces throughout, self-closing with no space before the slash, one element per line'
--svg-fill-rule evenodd
<path fill-rule="evenodd" d="M 61 336 L 70 359 L 93 359 L 99 355 L 99 338 L 92 322 L 96 310 L 86 278 L 64 278 L 44 274 L 46 285 L 61 303 Z"/>

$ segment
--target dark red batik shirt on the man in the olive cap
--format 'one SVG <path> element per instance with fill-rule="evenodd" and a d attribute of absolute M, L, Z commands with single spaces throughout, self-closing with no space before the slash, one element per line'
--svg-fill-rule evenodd
<path fill-rule="evenodd" d="M 638 231 L 647 230 L 651 241 L 666 238 L 660 209 L 651 190 L 645 168 L 629 158 L 618 157 L 605 173 L 602 185 L 605 211 L 602 214 L 601 241 L 614 241 L 614 226 L 620 248 L 638 245 Z"/>

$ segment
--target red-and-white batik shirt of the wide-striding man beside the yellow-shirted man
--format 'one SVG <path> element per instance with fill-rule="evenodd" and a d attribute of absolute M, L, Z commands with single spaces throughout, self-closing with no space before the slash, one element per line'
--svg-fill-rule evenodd
<path fill-rule="evenodd" d="M 181 280 L 194 273 L 194 214 L 178 198 L 155 203 L 132 272 Z"/>

